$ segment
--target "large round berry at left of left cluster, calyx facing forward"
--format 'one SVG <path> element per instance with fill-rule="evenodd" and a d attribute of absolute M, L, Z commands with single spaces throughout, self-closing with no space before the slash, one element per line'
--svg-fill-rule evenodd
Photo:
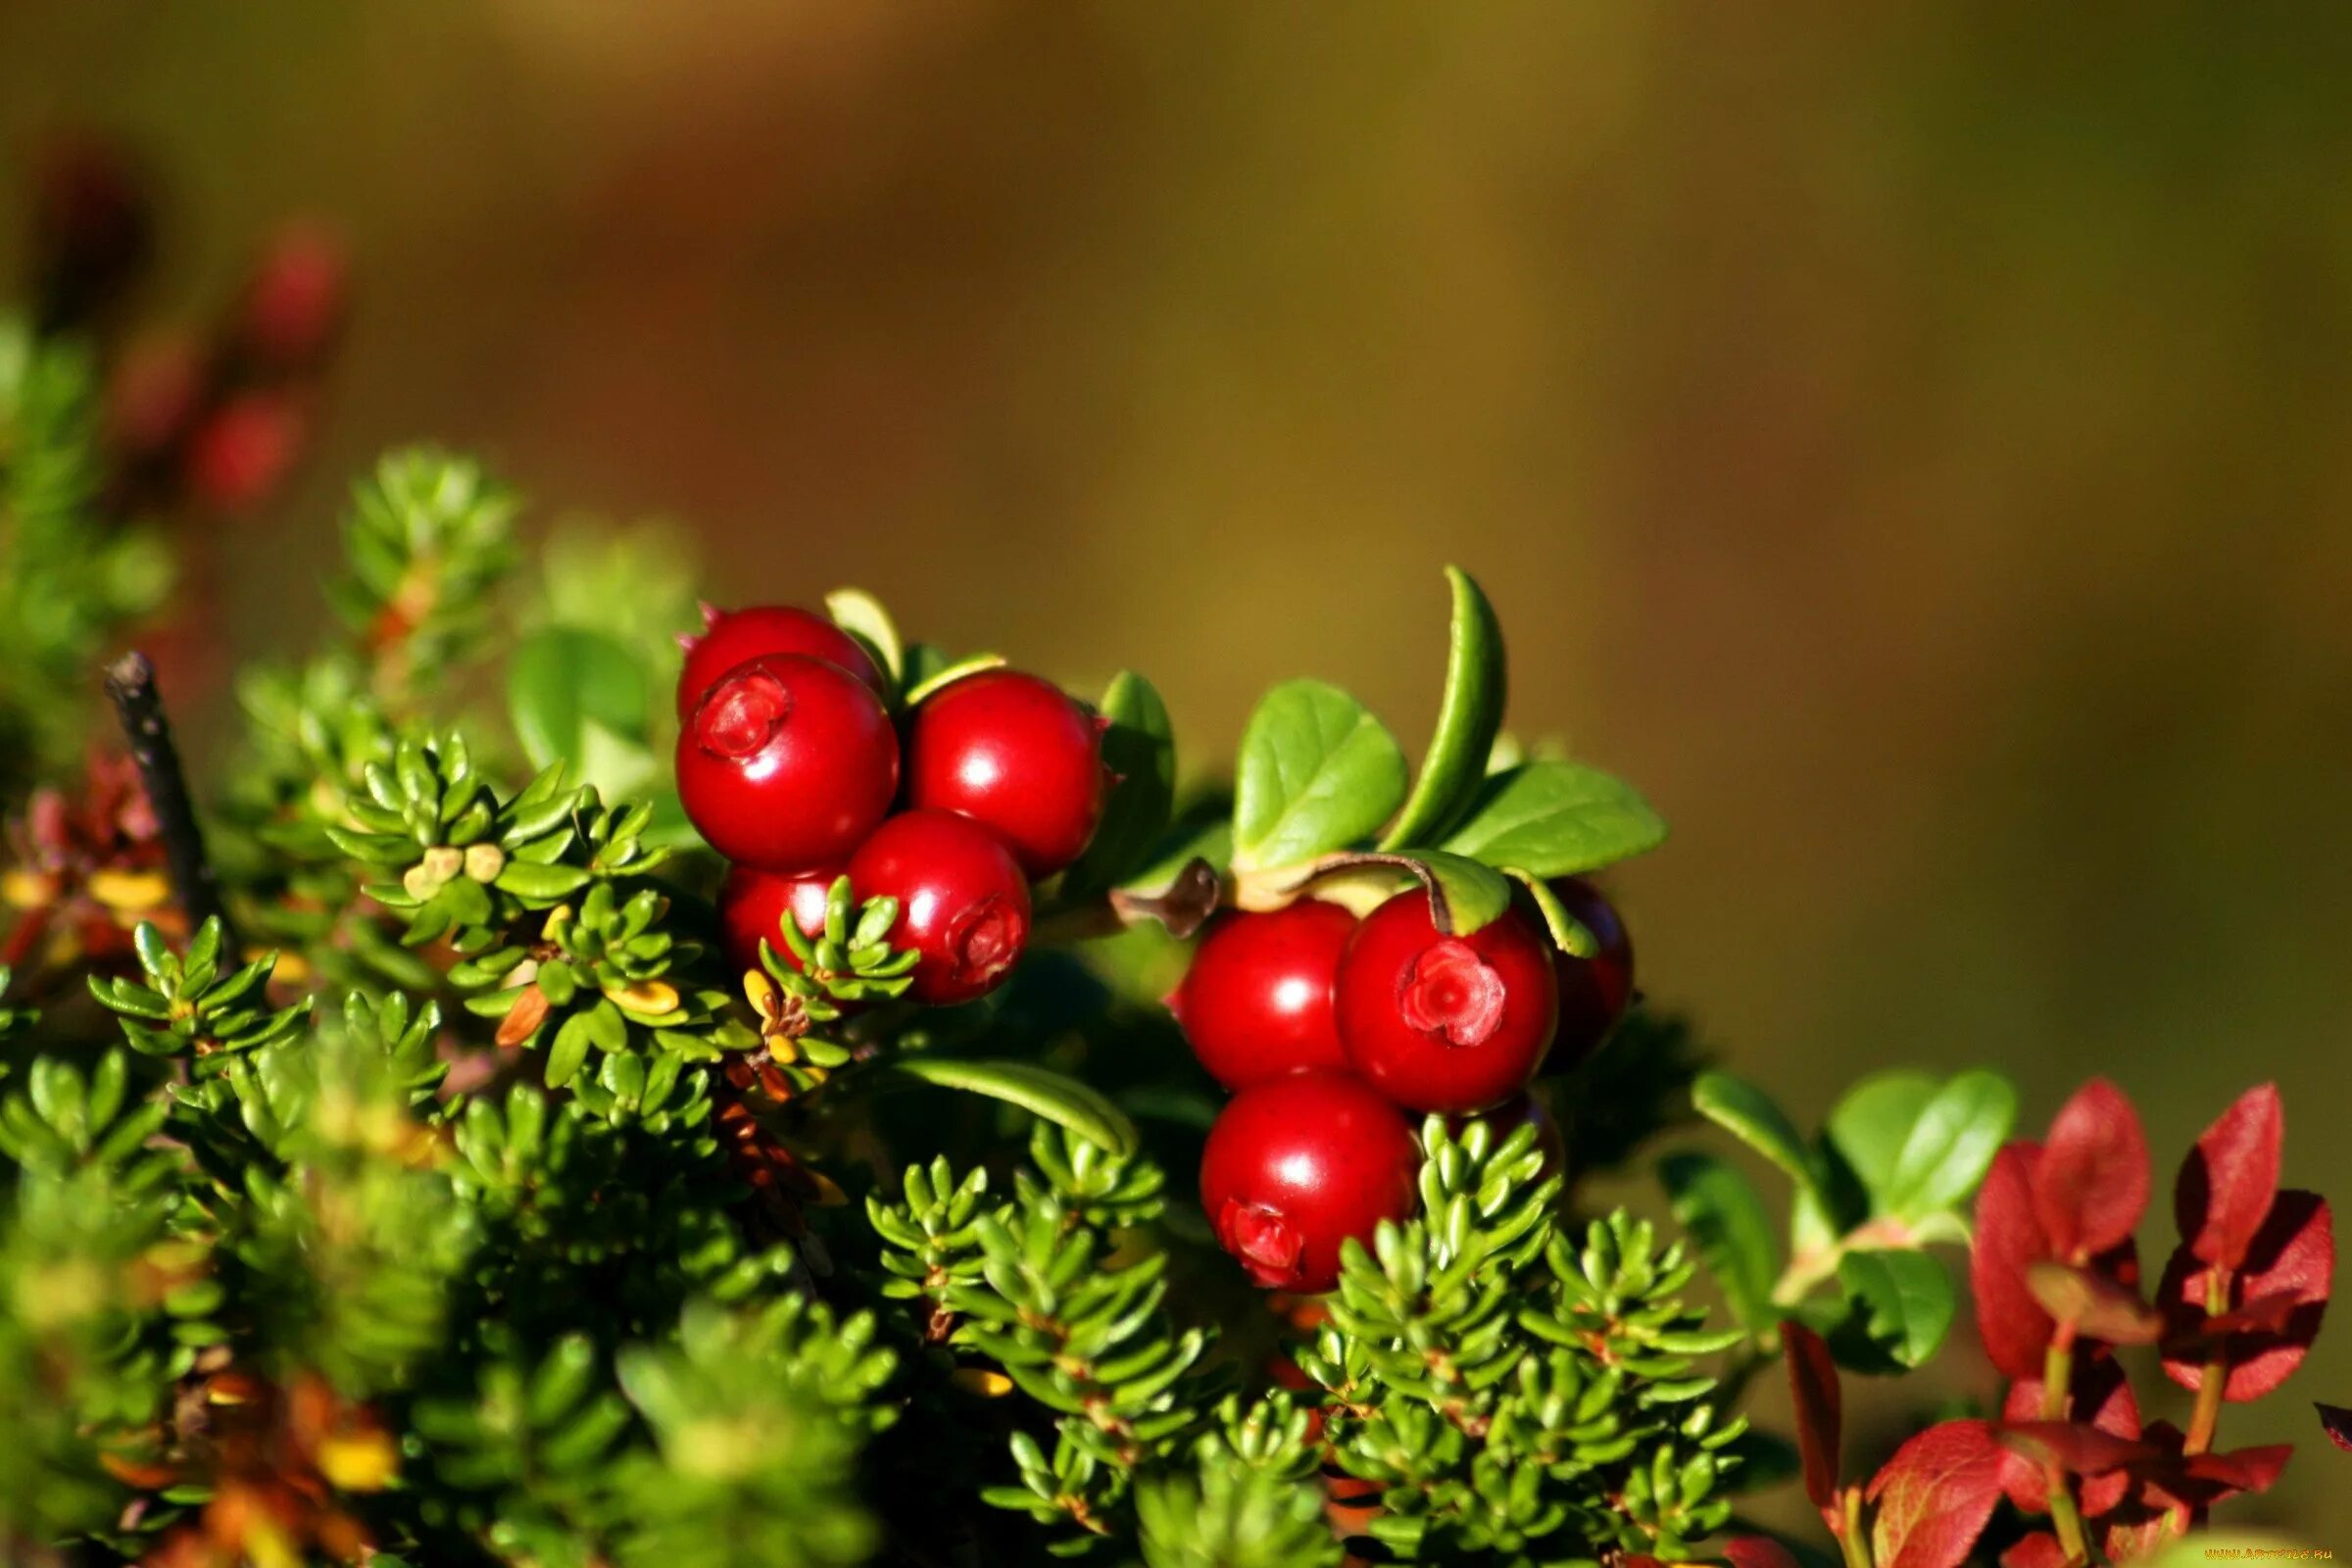
<path fill-rule="evenodd" d="M 717 679 L 677 733 L 677 797 L 729 860 L 840 865 L 898 792 L 882 701 L 823 658 L 774 654 Z"/>

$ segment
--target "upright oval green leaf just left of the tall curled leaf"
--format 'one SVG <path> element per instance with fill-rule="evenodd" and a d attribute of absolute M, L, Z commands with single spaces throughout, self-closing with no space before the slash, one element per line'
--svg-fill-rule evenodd
<path fill-rule="evenodd" d="M 1242 731 L 1232 865 L 1312 860 L 1371 837 L 1404 799 L 1404 752 L 1362 703 L 1324 682 L 1284 682 Z"/>

